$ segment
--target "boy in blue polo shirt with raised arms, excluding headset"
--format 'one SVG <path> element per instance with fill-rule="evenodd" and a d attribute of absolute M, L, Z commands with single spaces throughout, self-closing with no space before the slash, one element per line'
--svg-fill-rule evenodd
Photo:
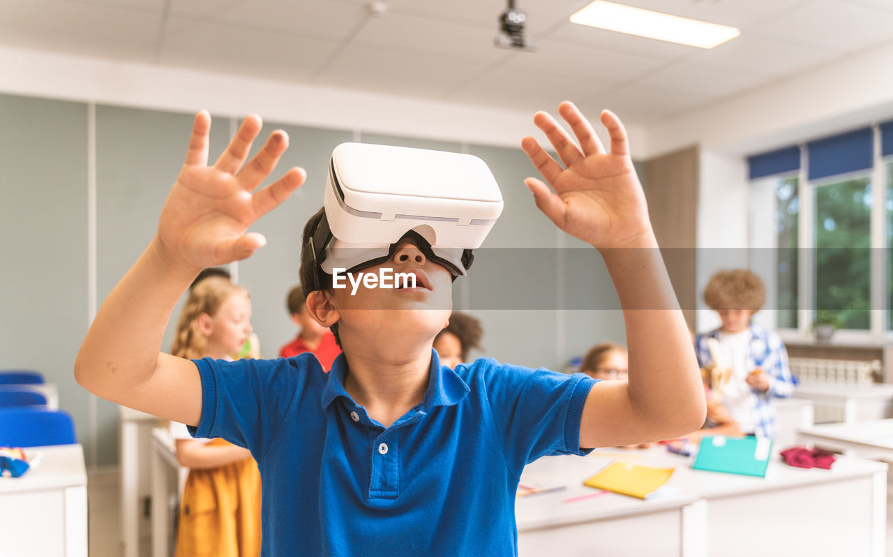
<path fill-rule="evenodd" d="M 705 417 L 689 332 L 622 124 L 601 115 L 607 152 L 574 105 L 559 112 L 579 144 L 536 114 L 563 165 L 524 138 L 546 180 L 525 182 L 543 213 L 605 258 L 624 310 L 629 382 L 489 359 L 439 366 L 431 345 L 447 323 L 454 275 L 471 258 L 438 254 L 437 241 L 432 248 L 424 234 L 410 234 L 374 265 L 355 265 L 412 275 L 415 288 L 364 284 L 352 295 L 330 287 L 326 259 L 338 253 L 327 251 L 331 239 L 326 248 L 313 241 L 326 235 L 321 214 L 305 230 L 302 282 L 316 282 L 307 308 L 335 325 L 344 350 L 328 375 L 310 355 L 224 362 L 162 353 L 165 325 L 196 274 L 263 246 L 247 228 L 305 179 L 293 168 L 255 191 L 288 142 L 273 132 L 245 164 L 261 128 L 255 116 L 207 166 L 204 112 L 155 238 L 90 327 L 77 380 L 100 397 L 189 424 L 194 435 L 251 449 L 263 477 L 264 555 L 516 554 L 514 494 L 526 463 L 685 435 Z"/>

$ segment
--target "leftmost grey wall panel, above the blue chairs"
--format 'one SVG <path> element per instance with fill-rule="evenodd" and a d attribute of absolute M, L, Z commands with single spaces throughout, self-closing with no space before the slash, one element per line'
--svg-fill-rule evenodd
<path fill-rule="evenodd" d="M 80 442 L 89 393 L 74 381 L 87 333 L 87 105 L 0 95 L 0 368 L 58 385 Z"/>

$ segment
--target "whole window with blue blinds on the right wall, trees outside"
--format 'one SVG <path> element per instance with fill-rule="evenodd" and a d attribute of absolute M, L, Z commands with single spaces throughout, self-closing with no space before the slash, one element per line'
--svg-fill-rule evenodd
<path fill-rule="evenodd" d="M 831 318 L 853 341 L 893 333 L 893 122 L 748 166 L 748 257 L 766 280 L 764 322 L 808 333 Z"/>

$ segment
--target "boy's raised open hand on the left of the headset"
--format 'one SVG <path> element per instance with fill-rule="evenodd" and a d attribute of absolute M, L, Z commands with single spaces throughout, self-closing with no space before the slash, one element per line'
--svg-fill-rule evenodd
<path fill-rule="evenodd" d="M 288 148 L 288 135 L 274 131 L 245 164 L 261 127 L 258 116 L 246 117 L 230 146 L 208 166 L 211 116 L 205 111 L 196 114 L 186 164 L 158 222 L 158 240 L 173 261 L 199 268 L 223 265 L 249 257 L 266 243 L 263 235 L 246 230 L 285 201 L 304 182 L 305 172 L 294 167 L 252 193 Z"/>

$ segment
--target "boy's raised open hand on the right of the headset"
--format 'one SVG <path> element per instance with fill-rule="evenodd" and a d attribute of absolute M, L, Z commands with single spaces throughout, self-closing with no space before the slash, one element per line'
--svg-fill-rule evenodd
<path fill-rule="evenodd" d="M 564 166 L 536 139 L 526 137 L 521 143 L 548 182 L 547 186 L 537 178 L 524 181 L 539 210 L 564 232 L 599 249 L 654 245 L 645 194 L 633 168 L 620 119 L 607 110 L 601 114 L 611 136 L 608 153 L 575 105 L 565 101 L 558 112 L 570 124 L 579 145 L 551 115 L 538 112 L 533 122 L 546 133 Z"/>

